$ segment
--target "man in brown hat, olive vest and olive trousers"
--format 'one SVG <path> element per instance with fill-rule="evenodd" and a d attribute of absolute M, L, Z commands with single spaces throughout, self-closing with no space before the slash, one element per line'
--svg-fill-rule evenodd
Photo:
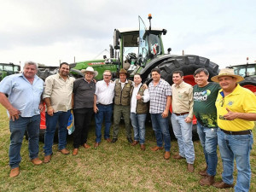
<path fill-rule="evenodd" d="M 117 74 L 119 79 L 115 80 L 114 86 L 114 106 L 113 106 L 113 139 L 112 143 L 116 143 L 119 134 L 119 122 L 123 115 L 125 119 L 126 137 L 129 143 L 133 143 L 131 139 L 131 123 L 130 123 L 130 98 L 132 94 L 132 81 L 128 80 L 129 73 L 125 69 L 121 69 Z"/>

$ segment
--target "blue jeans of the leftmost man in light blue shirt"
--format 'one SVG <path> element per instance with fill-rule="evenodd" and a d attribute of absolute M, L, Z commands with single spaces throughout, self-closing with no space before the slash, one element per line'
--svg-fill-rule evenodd
<path fill-rule="evenodd" d="M 25 131 L 28 134 L 28 151 L 31 160 L 38 157 L 39 152 L 40 115 L 32 117 L 19 117 L 15 121 L 9 120 L 10 145 L 9 166 L 11 169 L 20 164 L 20 148 Z"/>

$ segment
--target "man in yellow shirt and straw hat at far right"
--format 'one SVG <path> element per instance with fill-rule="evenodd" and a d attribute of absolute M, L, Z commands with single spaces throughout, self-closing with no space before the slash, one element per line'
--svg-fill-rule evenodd
<path fill-rule="evenodd" d="M 223 162 L 222 181 L 216 188 L 233 187 L 234 159 L 237 178 L 235 191 L 249 191 L 251 179 L 250 152 L 253 145 L 252 129 L 256 120 L 256 96 L 237 82 L 243 78 L 233 69 L 224 68 L 212 81 L 222 88 L 215 102 L 218 123 L 218 148 Z"/>

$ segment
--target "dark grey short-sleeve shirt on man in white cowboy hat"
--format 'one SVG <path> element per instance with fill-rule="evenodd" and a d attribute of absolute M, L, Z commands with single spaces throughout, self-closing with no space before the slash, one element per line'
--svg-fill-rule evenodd
<path fill-rule="evenodd" d="M 73 82 L 73 109 L 93 108 L 96 84 L 84 78 Z"/>

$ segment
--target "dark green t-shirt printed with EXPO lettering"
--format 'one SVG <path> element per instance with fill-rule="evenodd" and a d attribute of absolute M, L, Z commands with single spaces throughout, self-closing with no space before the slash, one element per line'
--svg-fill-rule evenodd
<path fill-rule="evenodd" d="M 193 89 L 195 117 L 201 125 L 208 128 L 218 127 L 215 107 L 218 90 L 220 90 L 220 86 L 214 82 L 209 82 L 204 87 L 195 84 Z"/>

